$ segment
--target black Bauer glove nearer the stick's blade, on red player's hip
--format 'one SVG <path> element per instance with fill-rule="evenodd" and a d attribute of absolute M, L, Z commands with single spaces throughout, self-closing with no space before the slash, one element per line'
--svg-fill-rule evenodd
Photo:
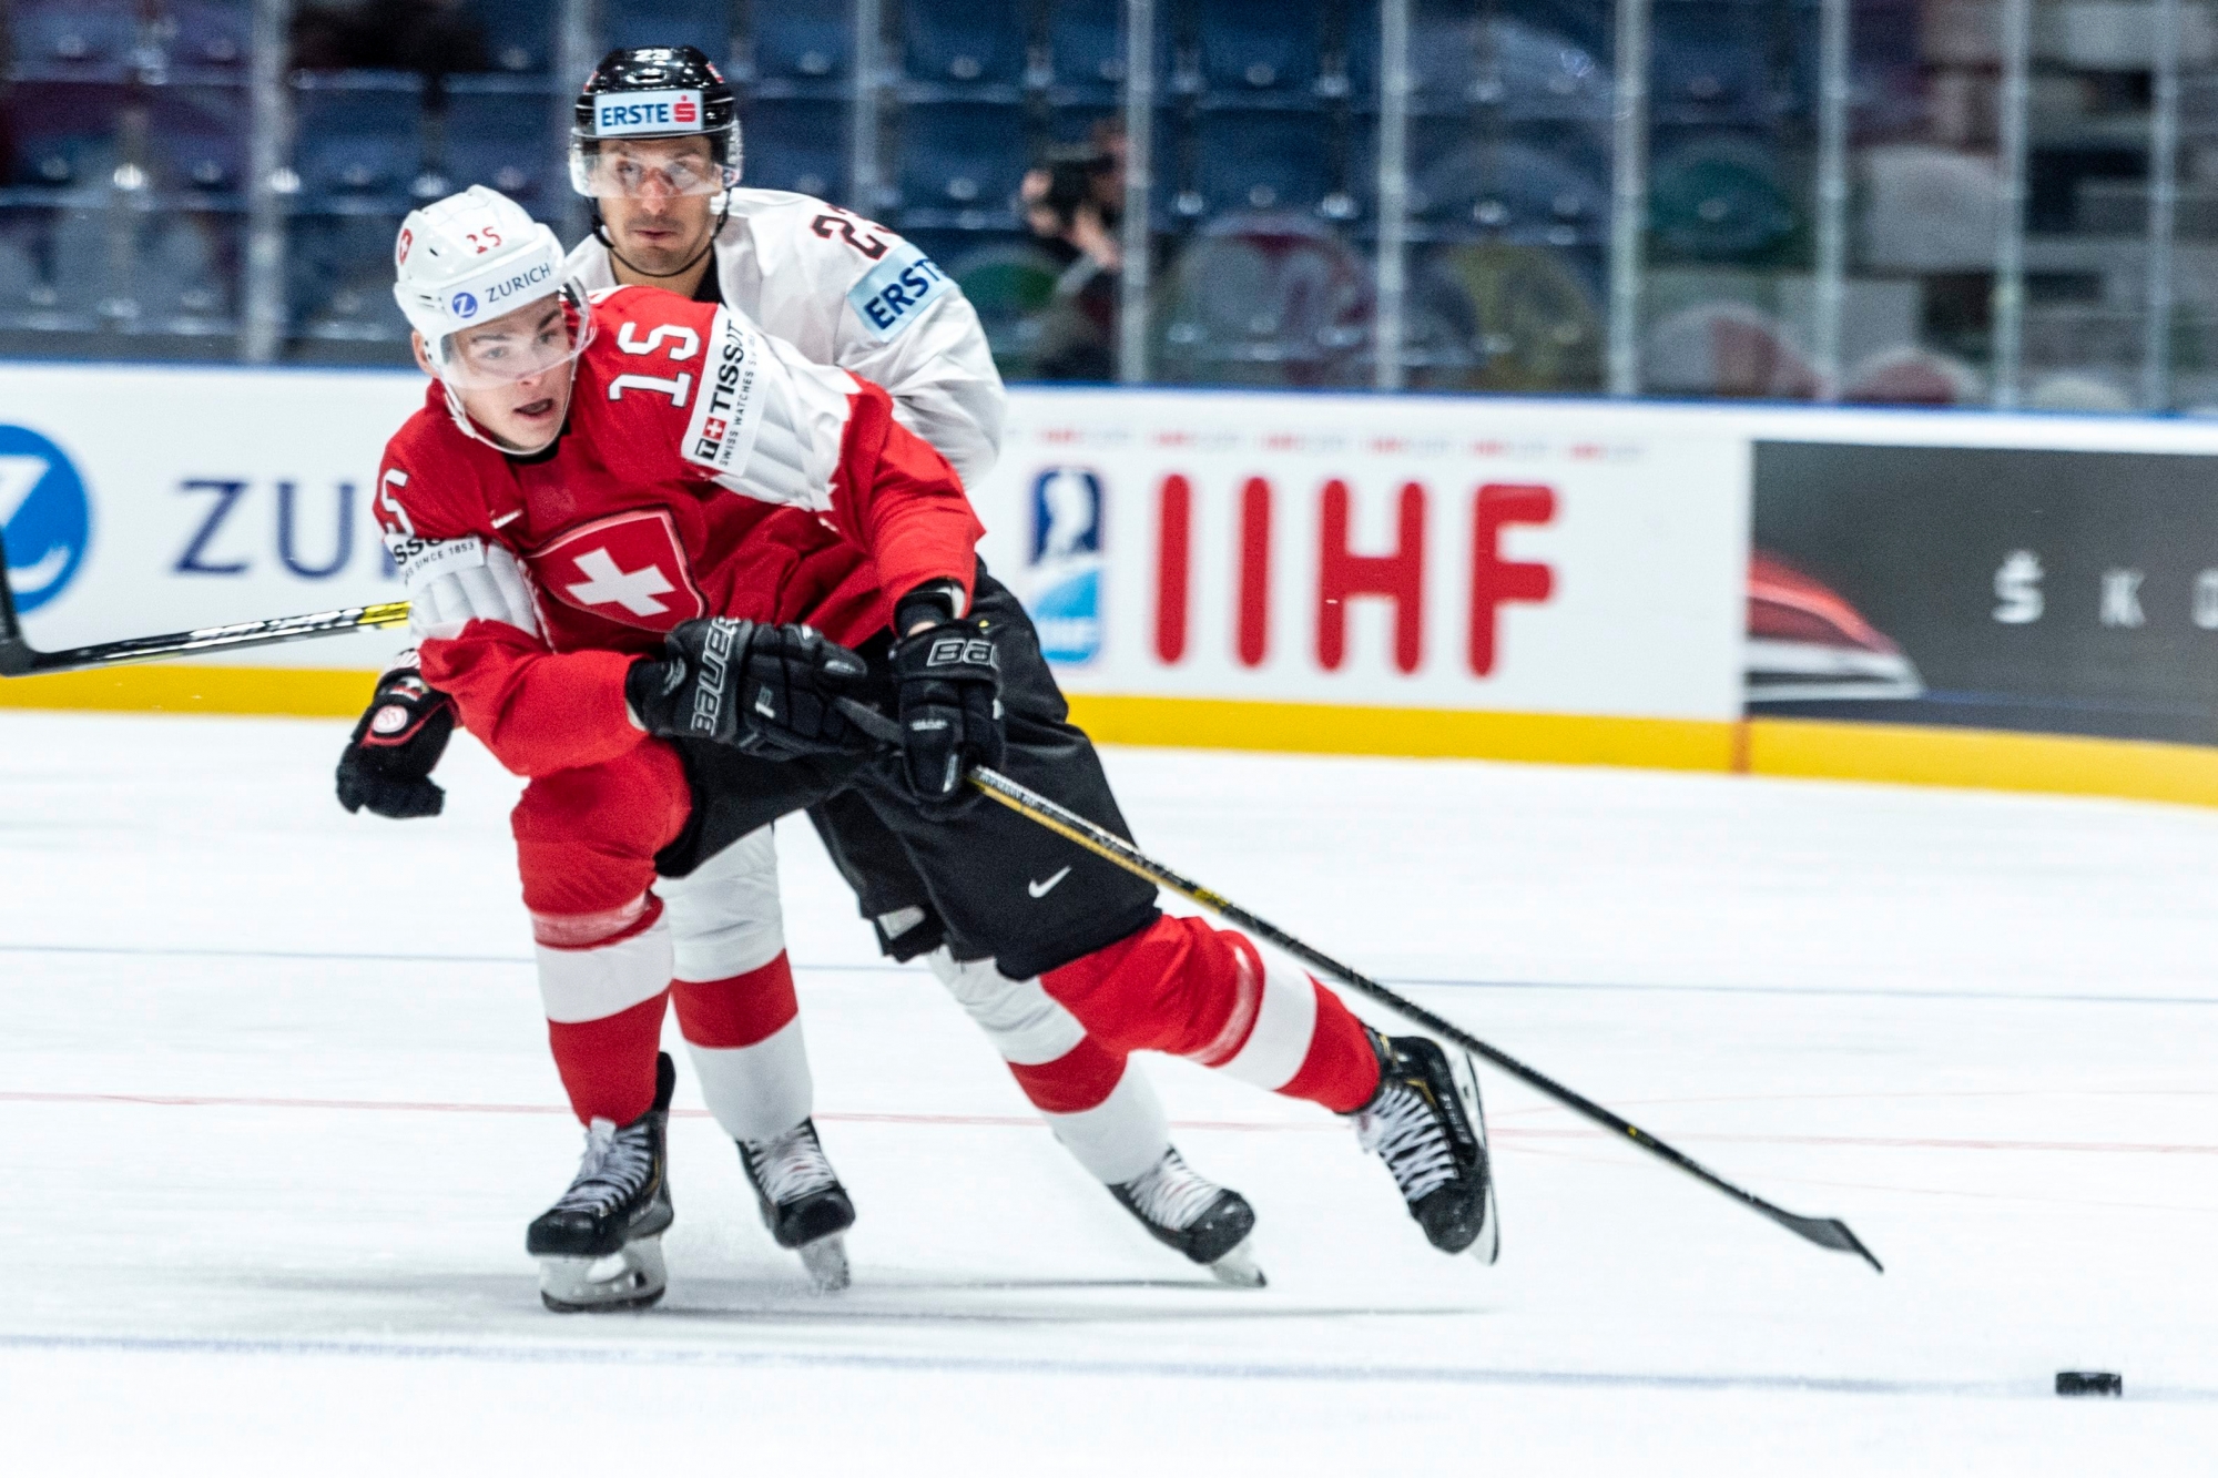
<path fill-rule="evenodd" d="M 918 617 L 932 624 L 912 630 Z M 909 597 L 901 604 L 894 681 L 901 684 L 901 770 L 927 806 L 965 799 L 971 766 L 998 766 L 1000 657 L 978 617 L 956 619 L 952 604 Z"/>

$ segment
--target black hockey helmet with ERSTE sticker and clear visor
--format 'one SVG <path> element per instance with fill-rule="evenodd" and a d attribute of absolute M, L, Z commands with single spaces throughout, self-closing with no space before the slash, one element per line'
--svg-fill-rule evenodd
<path fill-rule="evenodd" d="M 739 184 L 739 100 L 699 47 L 619 47 L 601 58 L 570 122 L 577 193 L 625 193 L 623 180 L 597 164 L 603 144 L 634 138 L 708 138 L 719 173 L 674 180 L 681 195 L 716 195 Z"/>

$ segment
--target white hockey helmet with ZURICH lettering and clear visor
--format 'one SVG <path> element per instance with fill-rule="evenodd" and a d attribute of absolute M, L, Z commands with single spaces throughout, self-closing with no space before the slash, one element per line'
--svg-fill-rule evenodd
<path fill-rule="evenodd" d="M 592 304 L 563 266 L 561 242 L 484 184 L 410 211 L 393 244 L 393 297 L 424 335 L 424 357 L 450 399 L 457 388 L 543 375 L 592 342 Z M 541 300 L 557 300 L 557 324 L 515 320 L 508 335 L 459 337 Z"/>

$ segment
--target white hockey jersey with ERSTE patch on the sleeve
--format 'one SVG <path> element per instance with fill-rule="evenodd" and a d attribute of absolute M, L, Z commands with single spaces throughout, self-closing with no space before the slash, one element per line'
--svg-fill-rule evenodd
<path fill-rule="evenodd" d="M 588 288 L 614 286 L 608 246 L 570 253 Z M 923 251 L 814 195 L 732 191 L 716 235 L 723 302 L 816 364 L 885 386 L 894 417 L 932 442 L 965 486 L 1000 455 L 1007 393 L 978 311 Z"/>

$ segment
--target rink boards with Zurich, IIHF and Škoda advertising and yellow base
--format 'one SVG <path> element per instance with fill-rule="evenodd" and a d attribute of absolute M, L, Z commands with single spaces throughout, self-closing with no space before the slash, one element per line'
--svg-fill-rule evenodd
<path fill-rule="evenodd" d="M 31 641 L 395 599 L 368 499 L 419 404 L 381 371 L 0 366 Z M 971 497 L 1113 741 L 2218 801 L 2211 455 L 2191 422 L 1027 386 Z M 346 715 L 397 646 L 0 703 Z"/>

